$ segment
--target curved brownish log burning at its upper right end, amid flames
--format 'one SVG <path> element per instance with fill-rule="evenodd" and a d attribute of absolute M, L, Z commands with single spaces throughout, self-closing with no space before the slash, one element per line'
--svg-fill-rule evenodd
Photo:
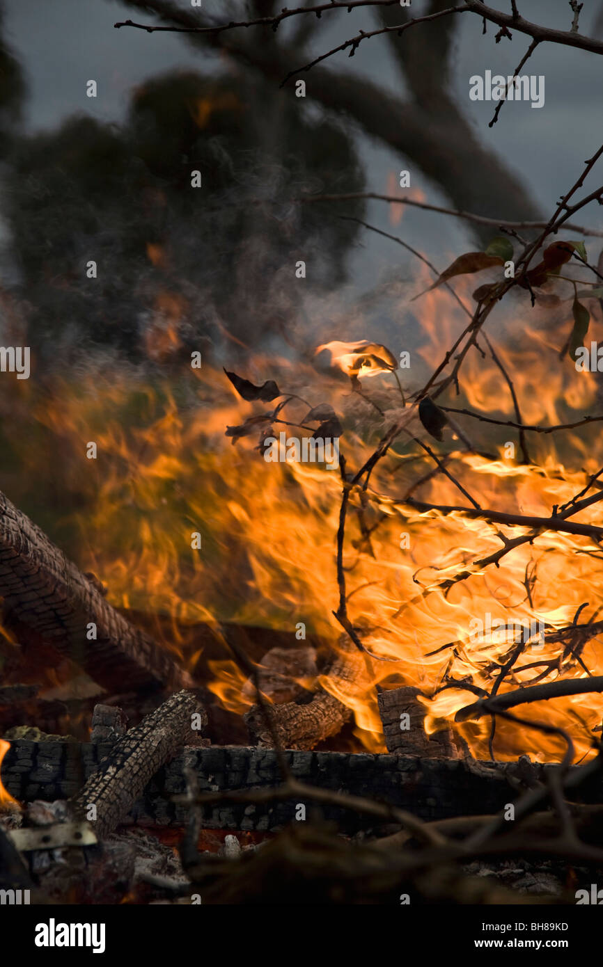
<path fill-rule="evenodd" d="M 355 679 L 365 671 L 365 660 L 347 635 L 340 638 L 339 652 L 323 677 L 328 674 L 330 686 L 346 693 L 353 689 Z M 351 709 L 324 689 L 318 690 L 310 702 L 274 705 L 271 712 L 275 738 L 284 748 L 314 748 L 323 739 L 337 735 L 351 718 Z M 254 705 L 243 718 L 258 746 L 274 746 L 270 725 L 261 706 Z"/>

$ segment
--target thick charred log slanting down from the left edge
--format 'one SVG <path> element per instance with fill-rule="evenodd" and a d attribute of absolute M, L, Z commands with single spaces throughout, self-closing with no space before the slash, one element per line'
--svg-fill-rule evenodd
<path fill-rule="evenodd" d="M 39 632 L 107 689 L 190 687 L 192 680 L 148 634 L 106 601 L 43 530 L 0 492 L 0 596 L 5 612 Z M 89 638 L 88 634 L 96 637 Z"/>

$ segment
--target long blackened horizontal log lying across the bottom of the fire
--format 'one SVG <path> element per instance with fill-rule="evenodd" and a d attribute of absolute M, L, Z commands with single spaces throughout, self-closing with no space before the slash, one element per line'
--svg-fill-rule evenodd
<path fill-rule="evenodd" d="M 12 743 L 2 765 L 2 780 L 16 799 L 67 799 L 77 795 L 85 778 L 94 773 L 110 746 L 75 743 Z M 323 789 L 354 796 L 380 798 L 408 809 L 419 818 L 492 813 L 519 795 L 521 771 L 517 763 L 481 763 L 471 759 L 425 759 L 399 754 L 285 751 L 293 775 Z M 160 769 L 146 785 L 124 820 L 124 825 L 181 826 L 186 806 L 172 802 L 186 792 L 184 769 L 196 772 L 201 792 L 258 789 L 281 781 L 276 752 L 271 748 L 211 746 L 186 747 Z M 536 766 L 545 781 L 558 766 Z M 603 779 L 572 790 L 572 800 L 603 802 Z M 308 813 L 312 804 L 305 804 Z M 290 822 L 295 803 L 253 805 L 224 803 L 204 809 L 203 827 L 270 831 Z M 339 806 L 321 807 L 326 818 L 344 832 L 354 833 L 375 825 L 375 820 Z"/>

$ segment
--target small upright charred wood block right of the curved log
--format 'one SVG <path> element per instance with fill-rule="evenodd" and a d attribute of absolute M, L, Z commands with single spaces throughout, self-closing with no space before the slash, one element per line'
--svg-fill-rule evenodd
<path fill-rule="evenodd" d="M 431 759 L 458 758 L 452 729 L 426 734 L 425 706 L 417 697 L 420 694 L 420 689 L 411 686 L 379 692 L 377 703 L 387 750 Z"/>

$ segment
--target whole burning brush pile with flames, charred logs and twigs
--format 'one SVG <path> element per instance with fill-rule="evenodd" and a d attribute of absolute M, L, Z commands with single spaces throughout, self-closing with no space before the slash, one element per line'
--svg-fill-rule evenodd
<path fill-rule="evenodd" d="M 580 185 L 525 249 L 422 265 L 422 341 L 15 385 L 3 889 L 574 902 L 603 867 Z"/>

